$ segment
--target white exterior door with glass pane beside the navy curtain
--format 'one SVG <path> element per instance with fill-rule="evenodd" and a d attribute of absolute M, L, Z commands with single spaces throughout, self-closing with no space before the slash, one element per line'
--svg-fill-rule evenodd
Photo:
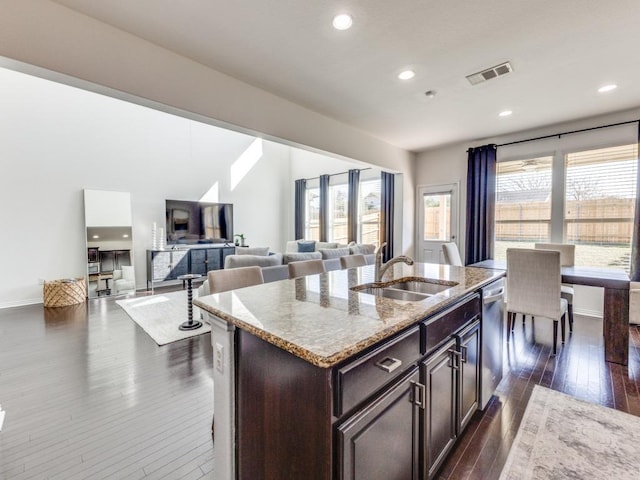
<path fill-rule="evenodd" d="M 444 263 L 442 244 L 458 243 L 458 184 L 418 188 L 418 260 Z"/>

